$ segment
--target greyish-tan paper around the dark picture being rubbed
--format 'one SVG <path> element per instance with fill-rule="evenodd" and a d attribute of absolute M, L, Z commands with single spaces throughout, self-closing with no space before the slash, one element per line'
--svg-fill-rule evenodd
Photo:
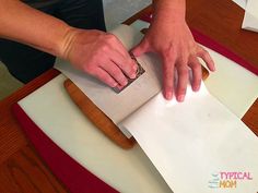
<path fill-rule="evenodd" d="M 136 32 L 133 27 L 127 25 L 120 25 L 110 33 L 115 34 L 128 50 L 139 43 L 143 36 L 139 31 Z M 144 55 L 137 60 L 145 72 L 119 94 L 96 79 L 75 70 L 69 62 L 59 60 L 56 62 L 55 68 L 72 80 L 114 123 L 118 124 L 157 94 L 162 87 L 162 65 L 157 58 L 152 55 Z"/>

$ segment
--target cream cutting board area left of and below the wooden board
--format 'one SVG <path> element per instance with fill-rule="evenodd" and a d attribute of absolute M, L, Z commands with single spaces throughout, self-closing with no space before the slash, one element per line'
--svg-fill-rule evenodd
<path fill-rule="evenodd" d="M 20 106 L 59 147 L 116 190 L 171 192 L 138 145 L 121 149 L 81 113 L 63 88 L 64 80 L 57 76 L 21 100 Z"/>

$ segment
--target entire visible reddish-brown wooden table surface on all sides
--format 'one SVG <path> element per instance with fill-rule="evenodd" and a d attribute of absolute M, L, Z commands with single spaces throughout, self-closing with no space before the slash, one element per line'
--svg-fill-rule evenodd
<path fill-rule="evenodd" d="M 133 15 L 127 23 L 133 22 L 150 11 L 151 7 Z M 256 55 L 258 53 L 258 34 L 241 31 L 243 15 L 244 11 L 231 0 L 187 1 L 187 22 L 191 27 L 231 48 L 258 68 Z M 66 186 L 51 173 L 44 160 L 38 157 L 11 112 L 11 106 L 14 102 L 58 74 L 57 70 L 51 69 L 0 101 L 1 193 L 68 192 Z M 243 121 L 258 136 L 258 99 L 246 112 Z"/>

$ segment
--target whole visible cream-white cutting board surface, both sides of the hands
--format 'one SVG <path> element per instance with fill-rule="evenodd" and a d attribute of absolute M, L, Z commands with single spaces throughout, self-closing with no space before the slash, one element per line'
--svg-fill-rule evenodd
<path fill-rule="evenodd" d="M 210 53 L 218 71 L 206 85 L 241 118 L 258 96 L 258 77 L 219 53 Z M 19 101 L 20 106 L 59 147 L 118 191 L 171 192 L 138 145 L 124 150 L 91 124 L 70 100 L 64 80 L 63 75 L 57 76 Z"/>

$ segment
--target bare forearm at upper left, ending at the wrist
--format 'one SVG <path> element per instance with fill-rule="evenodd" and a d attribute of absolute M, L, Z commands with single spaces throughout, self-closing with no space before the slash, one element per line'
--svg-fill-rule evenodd
<path fill-rule="evenodd" d="M 19 0 L 0 0 L 0 37 L 61 57 L 71 27 Z"/>

